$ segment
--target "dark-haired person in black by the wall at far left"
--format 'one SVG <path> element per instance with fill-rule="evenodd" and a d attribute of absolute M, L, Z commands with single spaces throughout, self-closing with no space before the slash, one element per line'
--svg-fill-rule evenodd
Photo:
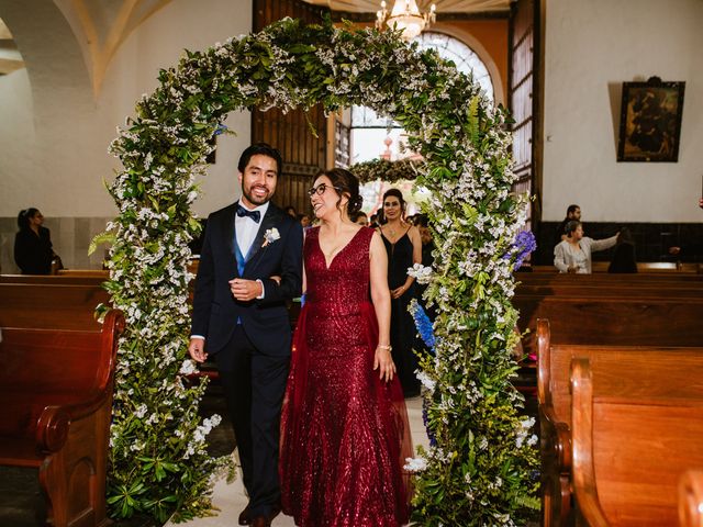
<path fill-rule="evenodd" d="M 24 209 L 18 214 L 18 227 L 14 235 L 14 261 L 22 274 L 51 274 L 52 235 L 43 227 L 44 216 L 35 209 Z"/>

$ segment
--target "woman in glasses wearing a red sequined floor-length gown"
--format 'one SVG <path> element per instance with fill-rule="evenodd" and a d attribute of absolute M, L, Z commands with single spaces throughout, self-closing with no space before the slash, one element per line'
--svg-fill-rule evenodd
<path fill-rule="evenodd" d="M 358 187 L 333 169 L 310 191 L 321 226 L 305 236 L 280 452 L 283 512 L 301 527 L 408 522 L 412 444 L 389 345 L 388 262 L 380 236 L 348 218 Z"/>

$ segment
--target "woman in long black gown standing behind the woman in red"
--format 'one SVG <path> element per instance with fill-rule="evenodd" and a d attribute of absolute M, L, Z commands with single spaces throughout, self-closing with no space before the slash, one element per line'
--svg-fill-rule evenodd
<path fill-rule="evenodd" d="M 398 377 L 405 396 L 420 394 L 420 381 L 415 377 L 417 357 L 413 348 L 421 349 L 417 330 L 408 311 L 410 301 L 417 298 L 415 279 L 408 274 L 408 268 L 422 262 L 420 232 L 408 223 L 405 200 L 398 189 L 389 189 L 383 194 L 383 213 L 378 232 L 388 254 L 388 287 L 391 290 L 391 346 L 393 361 L 398 366 Z"/>

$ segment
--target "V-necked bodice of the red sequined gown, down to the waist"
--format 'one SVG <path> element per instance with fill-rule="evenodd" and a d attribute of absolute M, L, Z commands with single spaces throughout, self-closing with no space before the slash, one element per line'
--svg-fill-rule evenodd
<path fill-rule="evenodd" d="M 305 235 L 304 259 L 308 291 L 305 302 L 330 309 L 353 310 L 369 300 L 369 246 L 373 229 L 362 227 L 330 262 L 320 248 L 320 227 Z"/>

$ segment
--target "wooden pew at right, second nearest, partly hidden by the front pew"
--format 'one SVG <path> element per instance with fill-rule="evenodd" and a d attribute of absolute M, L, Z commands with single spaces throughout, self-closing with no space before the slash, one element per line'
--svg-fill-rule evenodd
<path fill-rule="evenodd" d="M 633 336 L 634 338 L 635 336 Z M 571 507 L 571 360 L 585 357 L 598 372 L 601 390 L 611 395 L 635 397 L 703 399 L 703 347 L 604 346 L 555 344 L 549 322 L 537 329 L 537 400 L 542 458 L 543 525 L 573 525 Z M 646 339 L 643 343 L 647 343 Z M 703 340 L 699 340 L 699 344 Z M 635 368 L 633 361 L 646 362 Z M 672 389 L 660 375 L 681 379 L 699 372 L 698 381 Z"/>

